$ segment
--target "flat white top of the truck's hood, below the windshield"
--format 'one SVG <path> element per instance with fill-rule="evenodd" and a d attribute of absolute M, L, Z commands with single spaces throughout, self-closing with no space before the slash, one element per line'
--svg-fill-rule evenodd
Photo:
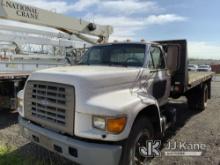
<path fill-rule="evenodd" d="M 86 88 L 107 88 L 111 86 L 128 85 L 135 82 L 142 69 L 135 67 L 111 67 L 111 66 L 67 66 L 50 68 L 37 71 L 30 79 L 43 79 L 67 83 Z"/>

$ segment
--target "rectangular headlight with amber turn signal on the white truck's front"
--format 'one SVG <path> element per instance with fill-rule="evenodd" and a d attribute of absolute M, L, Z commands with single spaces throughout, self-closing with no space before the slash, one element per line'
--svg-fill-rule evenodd
<path fill-rule="evenodd" d="M 93 116 L 92 124 L 94 128 L 113 133 L 121 133 L 127 122 L 125 116 L 122 117 L 102 117 L 102 116 Z"/>

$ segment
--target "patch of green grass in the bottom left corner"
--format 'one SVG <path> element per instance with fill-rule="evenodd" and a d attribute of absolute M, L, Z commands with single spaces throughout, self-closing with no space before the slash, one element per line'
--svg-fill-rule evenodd
<path fill-rule="evenodd" d="M 7 147 L 0 146 L 0 165 L 45 165 L 44 162 L 35 160 L 31 157 L 21 156 L 21 154 L 16 153 L 16 150 Z"/>

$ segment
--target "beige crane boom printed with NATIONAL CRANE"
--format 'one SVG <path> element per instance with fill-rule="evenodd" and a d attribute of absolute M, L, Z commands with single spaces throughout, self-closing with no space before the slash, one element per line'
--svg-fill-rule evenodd
<path fill-rule="evenodd" d="M 67 17 L 11 0 L 1 0 L 0 2 L 0 18 L 55 28 L 70 35 L 76 35 L 90 43 L 94 40 L 83 34 L 97 36 L 99 40 L 96 43 L 102 43 L 107 42 L 113 32 L 113 28 L 108 25 L 96 25 L 82 19 Z"/>

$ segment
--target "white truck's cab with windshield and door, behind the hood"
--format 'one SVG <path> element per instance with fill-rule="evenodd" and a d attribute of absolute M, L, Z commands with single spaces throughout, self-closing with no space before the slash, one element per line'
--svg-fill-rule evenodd
<path fill-rule="evenodd" d="M 135 69 L 141 72 L 136 81 L 148 82 L 143 84 L 143 87 L 158 100 L 159 105 L 165 104 L 170 95 L 170 74 L 166 55 L 163 48 L 156 43 L 113 43 L 93 46 L 83 56 L 79 65 Z"/>

